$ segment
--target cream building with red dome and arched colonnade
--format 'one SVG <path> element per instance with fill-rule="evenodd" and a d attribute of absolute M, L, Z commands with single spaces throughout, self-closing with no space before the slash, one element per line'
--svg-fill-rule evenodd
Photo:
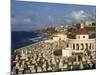
<path fill-rule="evenodd" d="M 69 39 L 68 45 L 73 49 L 73 52 L 84 52 L 84 50 L 95 51 L 95 38 L 90 39 L 88 31 L 81 24 L 80 28 L 76 31 L 76 38 Z"/>

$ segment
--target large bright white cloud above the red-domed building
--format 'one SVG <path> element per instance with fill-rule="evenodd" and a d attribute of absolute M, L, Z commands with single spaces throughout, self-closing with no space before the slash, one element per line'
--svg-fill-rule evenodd
<path fill-rule="evenodd" d="M 95 19 L 95 17 L 91 13 L 87 13 L 83 10 L 78 10 L 78 11 L 72 11 L 71 13 L 66 14 L 66 22 L 69 23 L 77 23 L 80 21 L 86 21 L 86 20 L 92 20 Z"/>

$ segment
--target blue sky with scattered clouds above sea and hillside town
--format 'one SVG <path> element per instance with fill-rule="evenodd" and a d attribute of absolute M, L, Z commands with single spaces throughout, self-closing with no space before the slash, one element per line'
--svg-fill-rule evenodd
<path fill-rule="evenodd" d="M 96 6 L 11 0 L 11 30 L 32 31 L 96 20 Z"/>

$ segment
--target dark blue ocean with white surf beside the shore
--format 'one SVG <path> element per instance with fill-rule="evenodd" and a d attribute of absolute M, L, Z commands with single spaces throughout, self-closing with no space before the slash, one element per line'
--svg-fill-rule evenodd
<path fill-rule="evenodd" d="M 48 37 L 40 33 L 13 31 L 11 32 L 11 50 L 13 52 L 15 49 L 46 39 Z"/>

